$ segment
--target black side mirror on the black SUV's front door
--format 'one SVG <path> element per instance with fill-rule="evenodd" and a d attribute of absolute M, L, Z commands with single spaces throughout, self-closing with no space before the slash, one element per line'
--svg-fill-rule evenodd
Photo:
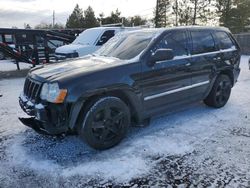
<path fill-rule="evenodd" d="M 158 49 L 150 58 L 150 64 L 153 65 L 157 61 L 167 61 L 174 58 L 172 49 Z"/>

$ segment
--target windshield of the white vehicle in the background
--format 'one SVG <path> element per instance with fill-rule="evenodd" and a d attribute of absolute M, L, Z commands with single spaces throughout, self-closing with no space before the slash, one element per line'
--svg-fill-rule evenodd
<path fill-rule="evenodd" d="M 94 45 L 100 34 L 100 29 L 87 29 L 83 31 L 72 44 Z"/>

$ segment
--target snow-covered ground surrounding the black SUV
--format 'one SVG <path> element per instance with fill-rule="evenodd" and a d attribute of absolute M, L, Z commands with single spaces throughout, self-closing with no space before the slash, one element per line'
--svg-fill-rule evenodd
<path fill-rule="evenodd" d="M 76 136 L 49 137 L 22 125 L 24 79 L 0 81 L 0 187 L 249 187 L 250 71 L 242 57 L 228 104 L 193 104 L 131 128 L 118 146 L 95 151 Z"/>

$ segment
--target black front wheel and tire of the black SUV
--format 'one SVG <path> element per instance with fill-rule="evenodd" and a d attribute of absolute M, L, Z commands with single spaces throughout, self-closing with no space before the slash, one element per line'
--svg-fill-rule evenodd
<path fill-rule="evenodd" d="M 78 134 L 91 147 L 104 150 L 117 145 L 129 125 L 128 106 L 117 97 L 103 97 L 90 104 Z"/>

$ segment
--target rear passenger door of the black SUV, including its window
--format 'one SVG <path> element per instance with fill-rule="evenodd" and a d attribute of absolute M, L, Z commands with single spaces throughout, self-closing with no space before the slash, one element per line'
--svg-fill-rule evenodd
<path fill-rule="evenodd" d="M 210 30 L 191 29 L 190 36 L 193 96 L 203 98 L 216 74 L 216 64 L 221 59 L 220 51 Z"/>

